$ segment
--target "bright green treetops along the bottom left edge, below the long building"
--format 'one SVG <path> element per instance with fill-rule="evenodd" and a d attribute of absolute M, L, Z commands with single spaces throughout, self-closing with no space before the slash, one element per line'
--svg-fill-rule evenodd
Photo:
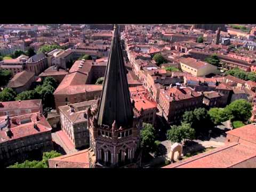
<path fill-rule="evenodd" d="M 61 156 L 60 153 L 58 153 L 55 150 L 52 150 L 50 152 L 43 153 L 43 158 L 41 161 L 28 161 L 26 160 L 23 163 L 15 163 L 14 165 L 9 166 L 8 168 L 48 168 L 48 159 L 59 157 Z"/>

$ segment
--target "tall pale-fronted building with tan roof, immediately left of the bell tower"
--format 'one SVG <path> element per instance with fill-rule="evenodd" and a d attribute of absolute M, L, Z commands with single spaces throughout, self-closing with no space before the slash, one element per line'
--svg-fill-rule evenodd
<path fill-rule="evenodd" d="M 75 148 L 89 146 L 85 109 L 96 102 L 96 100 L 91 100 L 59 107 L 61 130 L 68 136 Z"/>

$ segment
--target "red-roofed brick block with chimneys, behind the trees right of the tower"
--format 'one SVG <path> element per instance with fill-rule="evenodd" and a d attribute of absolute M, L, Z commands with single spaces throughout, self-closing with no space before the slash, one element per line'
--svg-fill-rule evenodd
<path fill-rule="evenodd" d="M 177 123 L 185 111 L 201 107 L 202 103 L 203 94 L 190 87 L 170 87 L 161 89 L 158 109 L 167 122 Z"/>

